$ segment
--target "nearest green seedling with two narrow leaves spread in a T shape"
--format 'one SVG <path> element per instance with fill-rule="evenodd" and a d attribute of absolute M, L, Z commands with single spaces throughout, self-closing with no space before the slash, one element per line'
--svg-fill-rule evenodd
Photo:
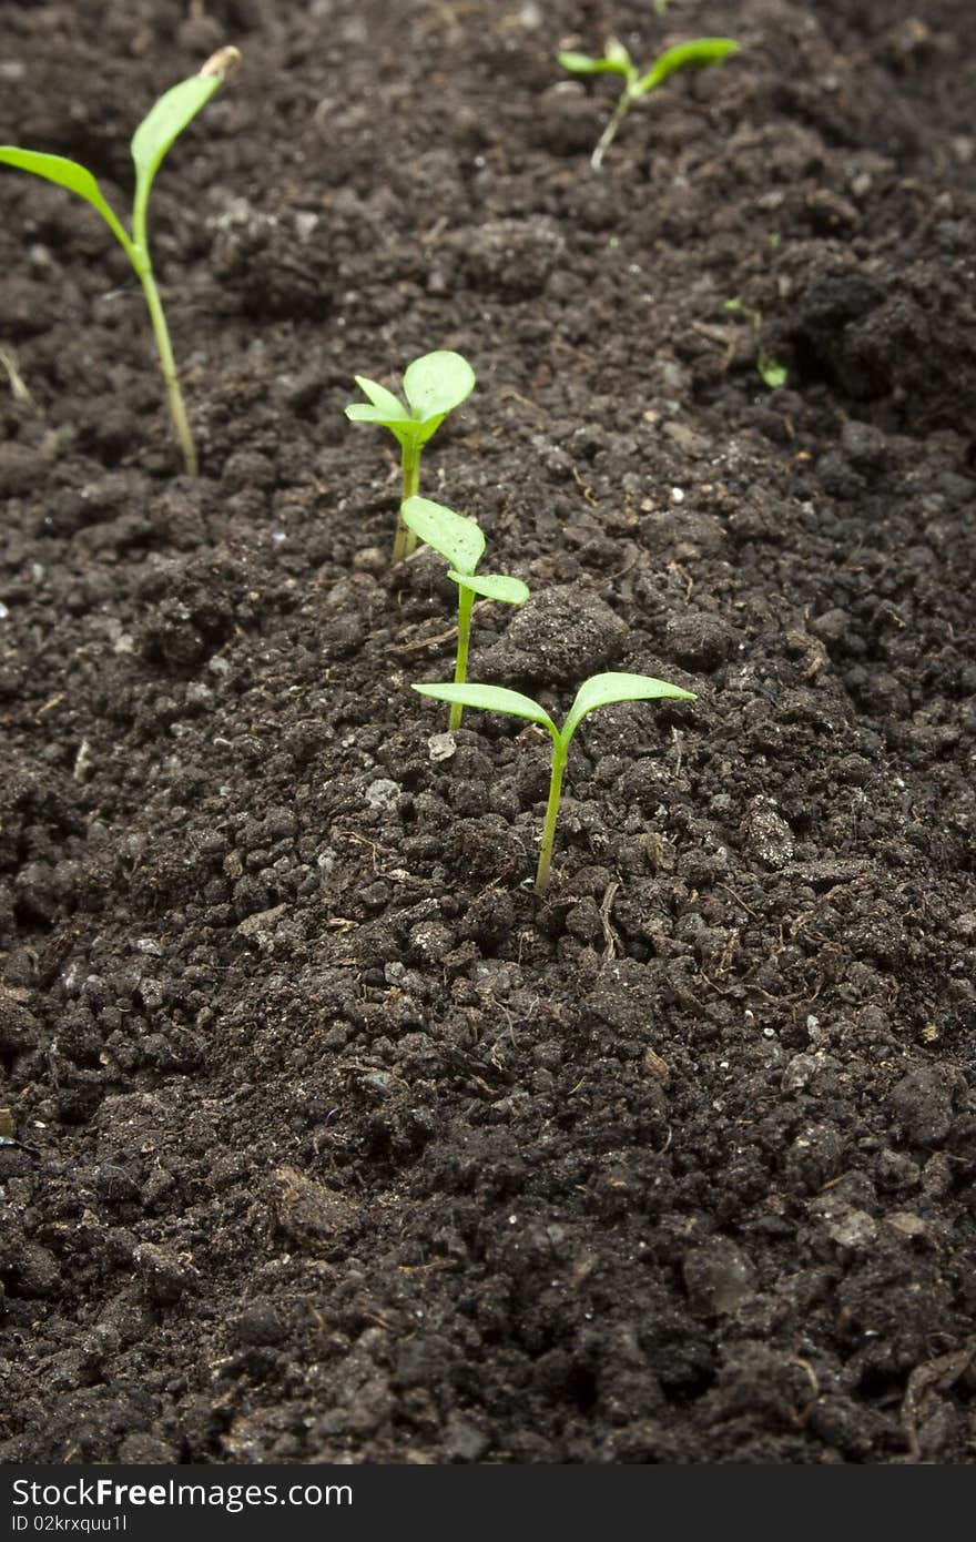
<path fill-rule="evenodd" d="M 577 699 L 569 709 L 569 717 L 558 729 L 549 712 L 533 702 L 530 695 L 518 691 L 507 691 L 496 685 L 415 685 L 421 695 L 432 695 L 438 702 L 455 702 L 461 706 L 480 706 L 486 712 L 510 712 L 513 717 L 527 717 L 532 723 L 541 723 L 552 736 L 552 774 L 549 779 L 549 803 L 546 805 L 546 822 L 543 825 L 543 843 L 535 873 L 535 893 L 544 894 L 549 884 L 549 867 L 552 864 L 552 847 L 555 842 L 555 827 L 560 816 L 560 799 L 563 796 L 563 771 L 566 769 L 566 754 L 569 742 L 577 728 L 598 706 L 612 706 L 615 702 L 657 702 L 669 699 L 675 702 L 694 702 L 692 691 L 683 691 L 678 685 L 668 685 L 666 680 L 654 680 L 651 675 L 632 674 L 601 674 L 591 675 L 577 691 Z"/>

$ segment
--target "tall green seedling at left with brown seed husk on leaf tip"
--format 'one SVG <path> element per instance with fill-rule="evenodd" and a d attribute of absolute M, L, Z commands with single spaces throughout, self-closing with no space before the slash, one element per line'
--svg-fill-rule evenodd
<path fill-rule="evenodd" d="M 111 205 L 105 200 L 102 188 L 91 171 L 79 165 L 77 160 L 42 154 L 37 150 L 19 150 L 14 145 L 0 146 L 0 163 L 15 167 L 20 171 L 29 171 L 46 182 L 57 182 L 59 187 L 77 193 L 93 208 L 97 208 L 133 264 L 150 308 L 153 336 L 156 338 L 176 438 L 183 453 L 183 464 L 191 476 L 197 475 L 197 453 L 176 373 L 170 328 L 167 327 L 159 288 L 153 274 L 146 214 L 150 190 L 167 151 L 210 100 L 222 80 L 236 69 L 241 54 L 236 48 L 220 48 L 207 60 L 199 74 L 190 76 L 188 80 L 180 80 L 179 85 L 171 86 L 170 91 L 160 96 L 159 102 L 150 109 L 133 134 L 130 148 L 136 165 L 136 193 L 133 199 L 131 231 L 125 228 Z"/>

